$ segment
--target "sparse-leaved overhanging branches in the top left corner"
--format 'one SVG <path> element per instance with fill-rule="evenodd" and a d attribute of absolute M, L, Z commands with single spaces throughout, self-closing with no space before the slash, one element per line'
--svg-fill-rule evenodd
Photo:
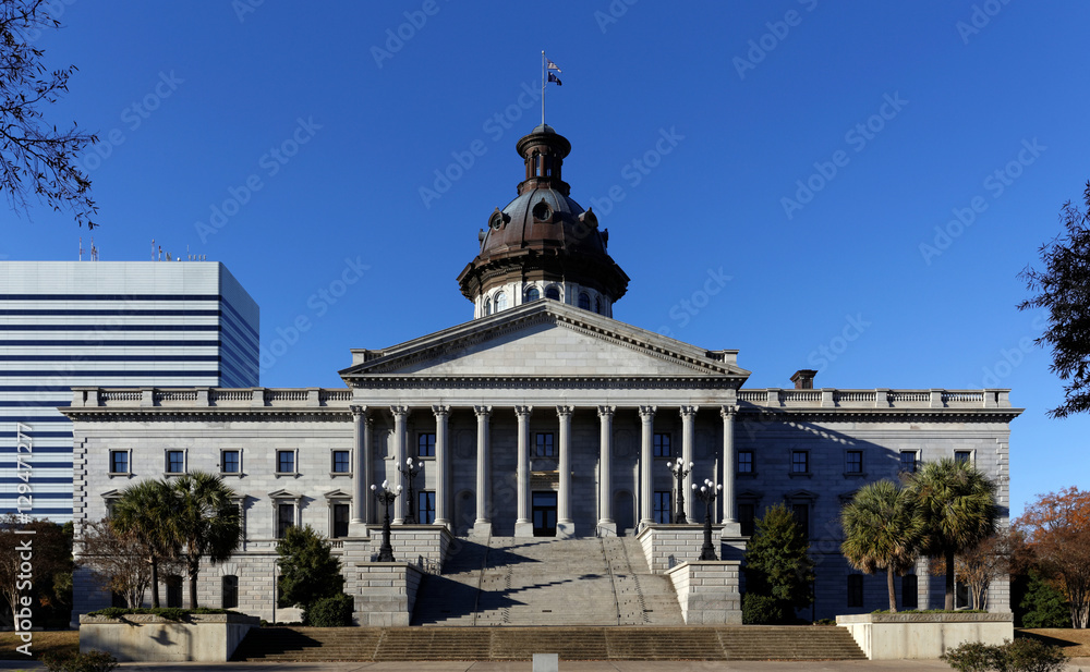
<path fill-rule="evenodd" d="M 43 51 L 32 46 L 43 28 L 59 28 L 50 15 L 56 2 L 0 2 L 0 192 L 16 211 L 28 209 L 33 194 L 53 210 L 69 208 L 82 227 L 96 224 L 90 180 L 81 172 L 76 155 L 97 142 L 75 124 L 58 131 L 43 118 L 41 106 L 57 102 L 68 91 L 75 65 L 48 71 Z"/>

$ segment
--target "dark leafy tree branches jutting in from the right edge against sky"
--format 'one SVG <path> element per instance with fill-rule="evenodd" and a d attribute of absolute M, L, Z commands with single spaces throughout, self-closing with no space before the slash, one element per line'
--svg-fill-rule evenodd
<path fill-rule="evenodd" d="M 1041 245 L 1043 270 L 1026 267 L 1019 274 L 1037 294 L 1018 304 L 1019 310 L 1044 308 L 1049 327 L 1037 339 L 1052 349 L 1052 372 L 1064 386 L 1064 403 L 1049 411 L 1067 417 L 1090 411 L 1090 182 L 1082 193 L 1086 209 L 1070 200 L 1059 210 L 1067 233 Z"/>

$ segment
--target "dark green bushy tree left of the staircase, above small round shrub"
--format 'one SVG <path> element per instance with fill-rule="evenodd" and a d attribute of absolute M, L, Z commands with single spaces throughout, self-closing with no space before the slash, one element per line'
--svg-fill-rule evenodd
<path fill-rule="evenodd" d="M 305 610 L 316 600 L 335 597 L 343 590 L 340 561 L 330 553 L 329 541 L 310 525 L 288 528 L 277 553 L 280 607 L 302 604 Z"/>

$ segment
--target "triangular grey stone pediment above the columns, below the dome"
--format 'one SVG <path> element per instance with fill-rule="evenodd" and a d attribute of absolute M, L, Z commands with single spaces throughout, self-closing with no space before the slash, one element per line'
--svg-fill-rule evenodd
<path fill-rule="evenodd" d="M 519 306 L 385 351 L 354 351 L 340 371 L 422 378 L 727 377 L 749 371 L 710 352 L 553 301 Z"/>

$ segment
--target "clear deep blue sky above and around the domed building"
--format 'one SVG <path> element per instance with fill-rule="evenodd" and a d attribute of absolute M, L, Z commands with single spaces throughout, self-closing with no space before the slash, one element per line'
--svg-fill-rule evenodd
<path fill-rule="evenodd" d="M 225 262 L 266 346 L 305 318 L 266 386 L 471 317 L 455 278 L 514 196 L 544 49 L 572 197 L 632 278 L 615 317 L 739 349 L 750 387 L 1012 388 L 1013 513 L 1090 487 L 1090 420 L 1045 417 L 1061 381 L 1015 309 L 1090 179 L 1085 2 L 55 4 L 37 44 L 80 68 L 51 119 L 102 140 L 101 258 Z M 0 218 L 9 259 L 89 247 L 65 213 Z"/>

